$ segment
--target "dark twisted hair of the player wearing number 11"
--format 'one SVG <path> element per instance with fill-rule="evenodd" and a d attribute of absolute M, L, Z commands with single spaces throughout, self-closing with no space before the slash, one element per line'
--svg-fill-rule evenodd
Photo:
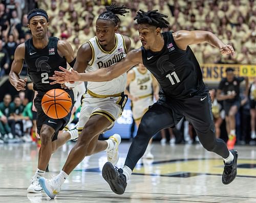
<path fill-rule="evenodd" d="M 134 17 L 134 20 L 137 20 L 138 24 L 149 24 L 150 26 L 155 26 L 157 28 L 168 28 L 169 22 L 164 18 L 167 18 L 167 15 L 161 14 L 158 10 L 153 11 L 142 11 L 139 10 L 137 15 Z"/>

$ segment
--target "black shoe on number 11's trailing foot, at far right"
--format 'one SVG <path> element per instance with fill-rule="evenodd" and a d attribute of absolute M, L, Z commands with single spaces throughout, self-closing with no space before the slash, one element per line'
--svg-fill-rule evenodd
<path fill-rule="evenodd" d="M 227 185 L 231 183 L 237 176 L 237 161 L 238 152 L 237 150 L 231 149 L 230 152 L 234 156 L 234 160 L 230 164 L 225 164 L 224 171 L 222 174 L 222 183 Z"/>

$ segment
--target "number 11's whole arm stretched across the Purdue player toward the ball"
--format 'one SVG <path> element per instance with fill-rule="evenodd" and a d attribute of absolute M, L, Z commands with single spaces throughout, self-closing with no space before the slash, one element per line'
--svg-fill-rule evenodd
<path fill-rule="evenodd" d="M 91 82 L 111 81 L 114 78 L 117 78 L 119 75 L 125 73 L 132 66 L 135 66 L 138 63 L 142 63 L 141 49 L 134 49 L 131 52 L 129 52 L 122 61 L 108 68 L 101 68 L 93 72 L 78 73 L 73 69 L 69 71 L 60 67 L 60 69 L 63 72 L 55 71 L 55 74 L 51 79 L 55 80 L 57 83 L 75 82 L 75 81 L 91 81 Z"/>

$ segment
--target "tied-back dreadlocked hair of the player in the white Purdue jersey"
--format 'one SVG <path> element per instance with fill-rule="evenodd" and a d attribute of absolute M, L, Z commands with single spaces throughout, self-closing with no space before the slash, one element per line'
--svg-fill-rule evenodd
<path fill-rule="evenodd" d="M 111 4 L 110 6 L 106 6 L 106 11 L 101 13 L 98 19 L 111 20 L 114 22 L 115 26 L 117 26 L 120 22 L 120 18 L 116 14 L 125 16 L 124 13 L 129 13 L 129 11 L 126 11 L 126 9 L 129 8 L 125 6 L 116 6 L 116 4 Z"/>

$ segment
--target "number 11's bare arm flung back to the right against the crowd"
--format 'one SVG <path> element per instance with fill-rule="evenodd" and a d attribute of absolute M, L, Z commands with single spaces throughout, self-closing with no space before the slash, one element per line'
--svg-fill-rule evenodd
<path fill-rule="evenodd" d="M 207 42 L 220 50 L 222 55 L 236 55 L 233 47 L 230 44 L 224 44 L 215 34 L 208 31 L 186 31 L 181 30 L 173 34 L 175 43 L 179 48 L 186 50 L 190 44 L 199 44 Z"/>

